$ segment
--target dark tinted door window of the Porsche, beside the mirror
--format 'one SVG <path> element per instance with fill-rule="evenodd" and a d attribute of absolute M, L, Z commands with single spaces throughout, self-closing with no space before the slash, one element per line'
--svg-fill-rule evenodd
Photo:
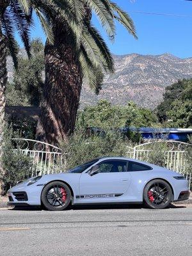
<path fill-rule="evenodd" d="M 109 173 L 109 172 L 127 172 L 127 161 L 118 161 L 118 160 L 109 160 L 104 161 L 99 164 L 100 173 Z"/>

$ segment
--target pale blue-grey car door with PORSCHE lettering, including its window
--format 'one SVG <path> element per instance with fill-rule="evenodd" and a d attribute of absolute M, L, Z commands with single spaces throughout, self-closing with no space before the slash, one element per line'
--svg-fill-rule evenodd
<path fill-rule="evenodd" d="M 101 161 L 98 172 L 82 173 L 79 179 L 79 200 L 82 202 L 114 202 L 124 195 L 131 183 L 127 172 L 128 161 L 109 159 Z M 96 168 L 97 169 L 97 168 Z"/>

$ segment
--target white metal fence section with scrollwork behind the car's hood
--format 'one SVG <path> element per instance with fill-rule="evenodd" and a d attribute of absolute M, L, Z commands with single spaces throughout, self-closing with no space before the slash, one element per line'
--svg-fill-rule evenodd
<path fill-rule="evenodd" d="M 66 171 L 66 158 L 61 154 L 60 148 L 36 140 L 15 138 L 12 140 L 17 152 L 22 152 L 33 159 L 33 171 L 29 175 L 36 176 Z"/>

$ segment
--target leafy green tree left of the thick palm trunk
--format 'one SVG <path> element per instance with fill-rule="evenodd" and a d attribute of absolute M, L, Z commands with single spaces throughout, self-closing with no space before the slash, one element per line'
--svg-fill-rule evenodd
<path fill-rule="evenodd" d="M 7 106 L 39 106 L 44 85 L 44 45 L 40 39 L 31 42 L 31 58 L 19 57 L 13 81 L 6 86 Z"/>

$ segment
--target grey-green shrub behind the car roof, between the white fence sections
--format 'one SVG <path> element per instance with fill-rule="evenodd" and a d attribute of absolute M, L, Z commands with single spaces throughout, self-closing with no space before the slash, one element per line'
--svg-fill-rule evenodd
<path fill-rule="evenodd" d="M 67 157 L 67 169 L 102 156 L 126 156 L 126 145 L 131 142 L 124 140 L 115 131 L 106 131 L 105 136 L 86 137 L 84 131 L 76 130 L 67 142 L 61 145 L 64 157 Z"/>

